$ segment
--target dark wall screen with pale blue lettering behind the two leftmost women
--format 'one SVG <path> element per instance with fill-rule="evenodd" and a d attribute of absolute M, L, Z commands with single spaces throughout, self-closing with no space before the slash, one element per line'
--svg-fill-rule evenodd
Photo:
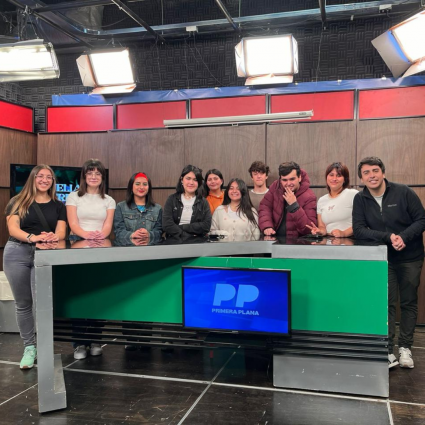
<path fill-rule="evenodd" d="M 17 195 L 25 185 L 35 165 L 10 165 L 10 197 Z M 71 192 L 80 187 L 81 167 L 51 167 L 56 177 L 56 196 L 63 203 Z M 106 170 L 106 188 L 108 188 L 108 170 Z"/>

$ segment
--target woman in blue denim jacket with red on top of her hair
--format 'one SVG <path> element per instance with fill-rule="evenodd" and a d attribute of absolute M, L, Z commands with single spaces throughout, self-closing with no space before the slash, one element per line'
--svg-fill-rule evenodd
<path fill-rule="evenodd" d="M 114 232 L 118 245 L 147 245 L 162 235 L 162 207 L 152 197 L 152 183 L 144 173 L 133 174 L 126 200 L 117 205 Z"/>

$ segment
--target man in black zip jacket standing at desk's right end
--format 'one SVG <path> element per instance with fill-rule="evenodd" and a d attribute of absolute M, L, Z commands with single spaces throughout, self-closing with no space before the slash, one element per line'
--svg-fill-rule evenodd
<path fill-rule="evenodd" d="M 418 286 L 424 262 L 422 233 L 425 210 L 412 189 L 385 179 L 377 157 L 360 161 L 358 175 L 365 188 L 354 197 L 356 239 L 388 245 L 388 365 L 413 368 L 410 348 L 418 315 Z M 393 354 L 397 293 L 400 294 L 399 362 Z"/>

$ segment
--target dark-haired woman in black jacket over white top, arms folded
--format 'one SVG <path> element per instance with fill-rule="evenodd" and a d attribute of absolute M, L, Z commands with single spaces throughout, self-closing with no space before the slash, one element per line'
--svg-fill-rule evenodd
<path fill-rule="evenodd" d="M 201 236 L 210 231 L 210 206 L 198 193 L 202 183 L 201 169 L 193 165 L 183 168 L 176 193 L 168 197 L 164 206 L 162 228 L 167 236 Z"/>

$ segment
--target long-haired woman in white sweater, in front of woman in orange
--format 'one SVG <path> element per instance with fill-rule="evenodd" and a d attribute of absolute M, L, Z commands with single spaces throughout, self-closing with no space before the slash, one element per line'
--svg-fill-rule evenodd
<path fill-rule="evenodd" d="M 234 238 L 260 236 L 258 214 L 252 206 L 248 188 L 241 179 L 232 179 L 224 192 L 223 204 L 214 211 L 211 234 Z"/>

